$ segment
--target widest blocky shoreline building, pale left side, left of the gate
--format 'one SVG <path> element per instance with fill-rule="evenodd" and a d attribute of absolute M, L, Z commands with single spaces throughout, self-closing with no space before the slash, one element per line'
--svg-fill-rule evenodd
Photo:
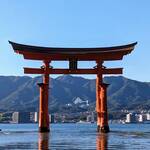
<path fill-rule="evenodd" d="M 30 123 L 30 112 L 14 112 L 12 114 L 13 123 Z"/>

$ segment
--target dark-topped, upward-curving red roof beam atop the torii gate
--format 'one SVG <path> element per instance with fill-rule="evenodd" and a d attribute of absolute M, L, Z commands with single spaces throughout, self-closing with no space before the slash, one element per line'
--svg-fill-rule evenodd
<path fill-rule="evenodd" d="M 41 47 L 18 44 L 9 41 L 16 53 L 22 54 L 25 59 L 32 60 L 121 60 L 124 55 L 132 52 L 135 43 L 113 47 L 94 48 L 62 48 Z"/>

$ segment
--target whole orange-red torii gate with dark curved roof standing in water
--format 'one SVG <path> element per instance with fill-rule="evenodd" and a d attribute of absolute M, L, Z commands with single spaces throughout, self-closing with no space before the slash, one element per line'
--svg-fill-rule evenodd
<path fill-rule="evenodd" d="M 41 68 L 24 68 L 26 74 L 43 74 L 40 87 L 39 131 L 49 131 L 48 93 L 50 74 L 96 74 L 96 111 L 98 132 L 109 132 L 107 116 L 107 87 L 103 83 L 104 74 L 122 74 L 123 68 L 106 68 L 104 61 L 122 60 L 124 55 L 131 53 L 136 43 L 114 47 L 97 48 L 56 48 L 23 45 L 9 41 L 16 53 L 24 59 L 41 60 Z M 69 68 L 59 69 L 49 66 L 51 61 L 69 61 Z M 95 61 L 96 67 L 78 69 L 78 61 Z"/>

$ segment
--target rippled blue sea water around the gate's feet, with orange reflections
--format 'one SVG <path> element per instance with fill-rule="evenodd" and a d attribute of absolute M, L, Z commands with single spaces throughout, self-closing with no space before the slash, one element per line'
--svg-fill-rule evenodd
<path fill-rule="evenodd" d="M 37 124 L 0 124 L 0 150 L 150 150 L 150 124 L 111 124 L 96 132 L 95 124 L 52 124 L 49 134 Z"/>

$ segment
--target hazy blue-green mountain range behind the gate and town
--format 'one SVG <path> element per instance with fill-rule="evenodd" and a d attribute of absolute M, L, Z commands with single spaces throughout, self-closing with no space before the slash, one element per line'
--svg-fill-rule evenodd
<path fill-rule="evenodd" d="M 0 76 L 0 111 L 37 111 L 40 76 Z M 104 78 L 108 87 L 108 108 L 150 109 L 150 83 L 127 79 L 122 76 Z M 95 108 L 95 80 L 70 75 L 50 79 L 50 111 L 72 111 L 85 109 L 74 100 L 86 101 L 88 109 Z M 82 106 L 84 106 L 82 104 Z"/>

